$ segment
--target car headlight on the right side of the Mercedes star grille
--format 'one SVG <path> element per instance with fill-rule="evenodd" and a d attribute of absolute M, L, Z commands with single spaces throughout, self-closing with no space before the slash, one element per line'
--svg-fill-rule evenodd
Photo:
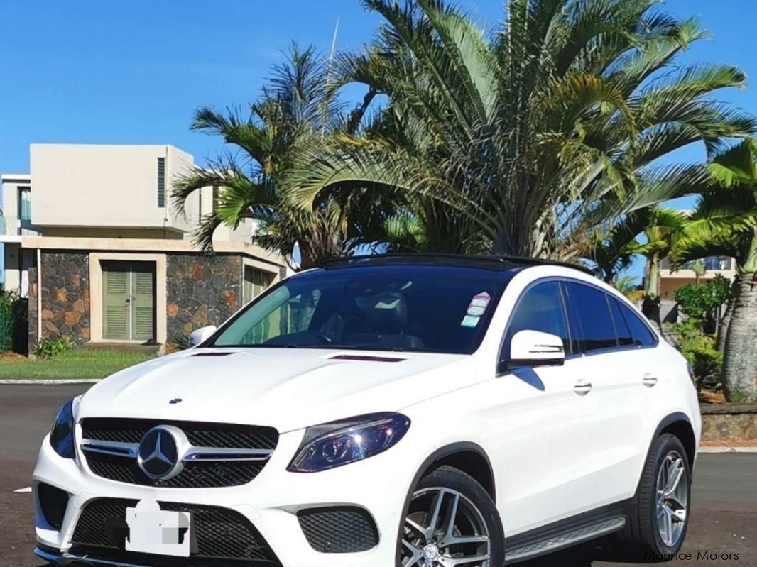
<path fill-rule="evenodd" d="M 308 427 L 290 472 L 317 472 L 354 463 L 386 451 L 407 432 L 402 414 L 369 414 Z"/>

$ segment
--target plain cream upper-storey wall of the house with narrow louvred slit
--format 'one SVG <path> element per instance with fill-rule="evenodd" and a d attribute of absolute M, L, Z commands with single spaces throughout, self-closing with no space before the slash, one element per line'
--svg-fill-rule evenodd
<path fill-rule="evenodd" d="M 157 206 L 158 157 L 166 159 L 164 208 Z M 32 224 L 187 230 L 197 207 L 190 203 L 186 220 L 173 213 L 170 188 L 192 163 L 168 145 L 31 144 Z"/>

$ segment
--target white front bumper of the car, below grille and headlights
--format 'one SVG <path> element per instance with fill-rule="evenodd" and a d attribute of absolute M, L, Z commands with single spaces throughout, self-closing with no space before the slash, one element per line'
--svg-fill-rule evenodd
<path fill-rule="evenodd" d="M 247 485 L 227 488 L 156 488 L 114 482 L 95 476 L 79 460 L 63 459 L 52 450 L 48 439 L 33 473 L 37 555 L 58 565 L 142 565 L 120 562 L 121 558 L 98 553 L 82 554 L 72 547 L 76 524 L 84 508 L 101 498 L 125 500 L 157 500 L 198 507 L 220 507 L 241 514 L 259 532 L 278 562 L 260 565 L 282 567 L 375 567 L 394 565 L 397 552 L 397 530 L 410 482 L 415 473 L 414 459 L 400 444 L 369 460 L 352 463 L 315 474 L 287 472 L 291 456 L 297 451 L 303 432 L 282 434 L 271 460 Z M 410 444 L 407 444 L 410 446 Z M 408 466 L 407 475 L 399 474 Z M 388 481 L 393 482 L 390 489 Z M 397 483 L 396 479 L 407 479 Z M 46 483 L 70 494 L 60 529 L 48 524 L 39 504 L 39 484 Z M 358 553 L 322 553 L 307 540 L 298 512 L 322 507 L 357 507 L 367 510 L 378 531 L 378 544 Z M 195 565 L 192 558 L 185 563 L 173 558 L 176 565 Z M 233 562 L 229 562 L 233 565 Z M 249 565 L 257 565 L 249 562 Z M 146 565 L 150 565 L 148 562 Z M 246 565 L 244 562 L 240 565 Z"/>

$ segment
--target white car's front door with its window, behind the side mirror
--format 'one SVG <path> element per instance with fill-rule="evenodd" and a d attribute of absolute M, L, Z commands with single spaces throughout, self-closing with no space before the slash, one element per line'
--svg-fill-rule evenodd
<path fill-rule="evenodd" d="M 507 360 L 509 340 L 520 330 L 561 337 L 566 358 L 562 366 L 517 367 L 499 380 L 506 399 L 498 407 L 502 427 L 494 458 L 503 476 L 498 503 L 508 536 L 580 513 L 592 490 L 585 465 L 595 460 L 590 440 L 597 398 L 575 392 L 583 366 L 572 352 L 559 281 L 538 281 L 522 293 L 501 359 Z"/>

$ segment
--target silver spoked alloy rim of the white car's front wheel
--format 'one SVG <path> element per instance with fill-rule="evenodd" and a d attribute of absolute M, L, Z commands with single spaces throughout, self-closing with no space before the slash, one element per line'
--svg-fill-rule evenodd
<path fill-rule="evenodd" d="M 489 567 L 491 541 L 481 511 L 451 488 L 424 488 L 410 500 L 403 567 Z"/>

